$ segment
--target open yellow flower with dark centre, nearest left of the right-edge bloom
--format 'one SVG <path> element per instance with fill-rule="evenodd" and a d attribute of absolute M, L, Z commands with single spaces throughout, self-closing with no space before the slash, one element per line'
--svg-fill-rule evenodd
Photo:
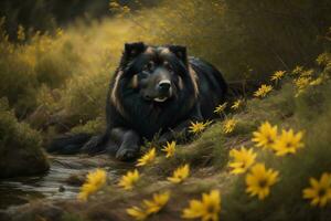
<path fill-rule="evenodd" d="M 266 170 L 264 164 L 257 164 L 252 167 L 246 176 L 246 192 L 250 197 L 258 196 L 259 200 L 265 199 L 270 193 L 270 187 L 278 181 L 278 171 Z"/>

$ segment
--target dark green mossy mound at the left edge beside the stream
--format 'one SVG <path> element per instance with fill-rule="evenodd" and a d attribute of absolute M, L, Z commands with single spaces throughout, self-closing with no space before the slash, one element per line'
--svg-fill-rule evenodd
<path fill-rule="evenodd" d="M 49 169 L 41 136 L 19 123 L 6 99 L 0 101 L 0 177 L 38 175 Z"/>

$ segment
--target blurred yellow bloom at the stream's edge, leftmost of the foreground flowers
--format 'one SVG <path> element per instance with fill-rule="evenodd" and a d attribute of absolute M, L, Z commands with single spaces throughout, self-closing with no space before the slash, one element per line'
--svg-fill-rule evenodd
<path fill-rule="evenodd" d="M 83 185 L 78 199 L 86 201 L 88 196 L 98 191 L 106 185 L 107 172 L 104 169 L 96 169 L 95 171 L 88 172 L 87 179 Z"/>

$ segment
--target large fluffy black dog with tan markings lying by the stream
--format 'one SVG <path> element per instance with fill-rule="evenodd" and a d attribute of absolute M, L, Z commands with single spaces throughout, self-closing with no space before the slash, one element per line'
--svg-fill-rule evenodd
<path fill-rule="evenodd" d="M 191 122 L 214 118 L 227 85 L 211 64 L 188 57 L 179 45 L 125 45 L 107 96 L 107 129 L 103 135 L 70 135 L 55 139 L 49 151 L 95 154 L 118 159 L 137 157 L 142 138 L 160 135 L 160 144 L 188 135 Z"/>

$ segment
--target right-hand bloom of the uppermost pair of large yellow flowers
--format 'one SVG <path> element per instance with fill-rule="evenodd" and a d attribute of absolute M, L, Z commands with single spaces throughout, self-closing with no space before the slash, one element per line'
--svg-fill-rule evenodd
<path fill-rule="evenodd" d="M 288 131 L 282 130 L 281 135 L 273 145 L 276 155 L 284 156 L 287 154 L 296 154 L 297 149 L 303 147 L 303 144 L 301 143 L 302 135 L 302 131 L 295 134 L 292 129 Z"/>

